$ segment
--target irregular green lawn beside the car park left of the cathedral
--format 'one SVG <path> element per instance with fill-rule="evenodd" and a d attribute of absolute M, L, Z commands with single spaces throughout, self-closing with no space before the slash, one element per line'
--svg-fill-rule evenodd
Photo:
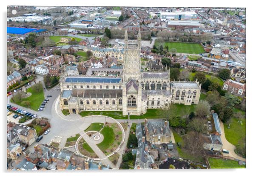
<path fill-rule="evenodd" d="M 39 93 L 37 93 L 36 91 L 34 91 L 32 88 L 28 88 L 27 92 L 31 93 L 31 96 L 27 97 L 27 98 L 23 98 L 21 100 L 21 102 L 23 101 L 29 101 L 30 102 L 30 109 L 32 110 L 38 110 L 38 108 L 40 107 L 40 105 L 42 104 L 43 100 L 45 99 L 44 93 L 43 93 L 43 88 L 41 89 L 41 91 Z M 11 102 L 13 102 L 13 100 L 11 99 Z M 23 106 L 23 104 L 21 104 L 21 102 L 18 102 L 16 104 Z"/>

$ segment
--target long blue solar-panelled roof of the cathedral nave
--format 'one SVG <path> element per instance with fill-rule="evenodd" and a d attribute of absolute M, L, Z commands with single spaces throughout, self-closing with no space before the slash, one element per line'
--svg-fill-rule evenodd
<path fill-rule="evenodd" d="M 121 78 L 109 78 L 109 77 L 66 77 L 65 82 L 106 82 L 106 83 L 118 83 Z"/>

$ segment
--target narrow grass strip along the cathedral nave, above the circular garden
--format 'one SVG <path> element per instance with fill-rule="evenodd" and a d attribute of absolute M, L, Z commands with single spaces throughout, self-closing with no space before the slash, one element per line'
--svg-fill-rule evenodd
<path fill-rule="evenodd" d="M 127 115 L 122 115 L 122 111 L 82 111 L 80 113 L 82 117 L 89 115 L 106 115 L 115 119 L 127 119 Z"/>

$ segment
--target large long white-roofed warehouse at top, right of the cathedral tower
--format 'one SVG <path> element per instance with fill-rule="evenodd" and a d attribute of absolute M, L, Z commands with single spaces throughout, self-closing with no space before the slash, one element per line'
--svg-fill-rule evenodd
<path fill-rule="evenodd" d="M 161 11 L 160 18 L 162 21 L 166 20 L 193 20 L 198 19 L 198 14 L 194 11 Z"/>

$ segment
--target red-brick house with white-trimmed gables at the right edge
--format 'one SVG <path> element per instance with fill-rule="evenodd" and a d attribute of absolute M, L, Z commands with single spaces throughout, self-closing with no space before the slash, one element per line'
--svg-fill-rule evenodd
<path fill-rule="evenodd" d="M 229 79 L 224 82 L 222 89 L 236 96 L 245 96 L 245 83 Z"/>

